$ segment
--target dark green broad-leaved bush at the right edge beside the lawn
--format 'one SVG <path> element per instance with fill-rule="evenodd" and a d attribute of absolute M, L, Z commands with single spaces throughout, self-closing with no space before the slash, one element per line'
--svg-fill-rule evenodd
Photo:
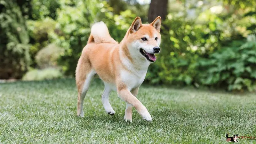
<path fill-rule="evenodd" d="M 198 61 L 200 83 L 228 90 L 256 90 L 256 40 L 233 42 L 232 47 L 213 52 L 209 59 Z"/>

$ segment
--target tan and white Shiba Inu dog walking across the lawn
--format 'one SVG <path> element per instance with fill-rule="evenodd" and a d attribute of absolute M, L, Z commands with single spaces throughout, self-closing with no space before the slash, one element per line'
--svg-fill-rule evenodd
<path fill-rule="evenodd" d="M 76 67 L 77 116 L 84 116 L 84 97 L 93 76 L 97 74 L 105 84 L 101 97 L 109 115 L 115 115 L 108 100 L 109 93 L 117 91 L 118 97 L 126 102 L 125 121 L 132 122 L 132 107 L 137 109 L 143 119 L 152 120 L 147 108 L 136 96 L 149 64 L 156 60 L 154 53 L 160 52 L 160 27 L 160 16 L 150 24 L 142 24 L 141 19 L 136 17 L 123 40 L 117 43 L 103 22 L 92 26 L 91 35 Z"/>

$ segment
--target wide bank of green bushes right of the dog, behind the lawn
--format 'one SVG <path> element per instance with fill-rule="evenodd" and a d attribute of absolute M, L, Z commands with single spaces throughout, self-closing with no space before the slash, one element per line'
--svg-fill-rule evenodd
<path fill-rule="evenodd" d="M 242 62 L 240 59 L 244 57 L 239 56 L 241 53 L 244 56 L 247 50 L 255 53 L 252 44 L 248 44 L 251 42 L 245 41 L 246 37 L 255 39 L 250 36 L 255 33 L 252 27 L 256 23 L 251 10 L 247 9 L 245 15 L 218 14 L 206 10 L 195 20 L 170 13 L 161 30 L 161 52 L 158 60 L 149 67 L 146 80 L 151 84 L 206 85 L 229 91 L 255 90 L 254 58 L 249 59 L 248 56 L 246 58 L 250 61 Z M 250 50 L 240 50 L 241 45 L 250 45 Z M 237 57 L 233 58 L 234 55 Z M 221 69 L 227 65 L 232 67 L 228 73 L 236 75 L 226 74 Z M 247 74 L 250 70 L 252 73 Z M 238 77 L 242 79 L 236 80 Z"/>

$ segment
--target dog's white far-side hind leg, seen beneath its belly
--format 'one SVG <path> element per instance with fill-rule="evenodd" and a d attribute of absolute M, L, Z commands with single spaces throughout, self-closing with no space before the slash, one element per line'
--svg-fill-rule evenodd
<path fill-rule="evenodd" d="M 109 103 L 109 100 L 108 100 L 110 92 L 111 92 L 111 89 L 110 89 L 109 85 L 105 83 L 105 88 L 104 88 L 104 91 L 101 95 L 101 101 L 102 101 L 103 107 L 105 108 L 106 112 L 109 115 L 114 116 L 115 111 L 111 107 L 111 105 Z"/>

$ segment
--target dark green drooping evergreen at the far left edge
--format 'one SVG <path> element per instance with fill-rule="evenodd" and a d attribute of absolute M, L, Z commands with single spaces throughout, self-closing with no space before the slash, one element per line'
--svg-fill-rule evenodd
<path fill-rule="evenodd" d="M 12 1 L 0 0 L 0 79 L 21 78 L 30 64 L 25 17 Z"/>

